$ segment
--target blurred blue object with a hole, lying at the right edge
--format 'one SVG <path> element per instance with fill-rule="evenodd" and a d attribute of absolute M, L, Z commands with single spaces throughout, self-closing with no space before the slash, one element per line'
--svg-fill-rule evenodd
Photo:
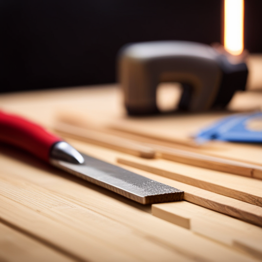
<path fill-rule="evenodd" d="M 262 113 L 237 114 L 226 117 L 214 125 L 201 130 L 195 137 L 197 143 L 209 140 L 223 140 L 232 142 L 262 143 L 262 128 L 253 130 L 248 128 L 248 122 L 259 119 L 262 122 Z"/>

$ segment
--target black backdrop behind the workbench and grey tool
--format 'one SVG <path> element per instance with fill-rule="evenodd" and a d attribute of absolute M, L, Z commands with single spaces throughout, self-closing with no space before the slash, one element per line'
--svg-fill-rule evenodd
<path fill-rule="evenodd" d="M 1 0 L 1 92 L 116 81 L 125 43 L 221 41 L 221 0 Z M 262 52 L 262 1 L 245 1 L 245 48 Z"/>

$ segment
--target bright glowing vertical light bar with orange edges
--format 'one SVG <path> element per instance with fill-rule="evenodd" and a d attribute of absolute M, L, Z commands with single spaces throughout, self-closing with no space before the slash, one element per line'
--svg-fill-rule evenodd
<path fill-rule="evenodd" d="M 232 55 L 244 50 L 244 0 L 225 0 L 224 46 Z"/>

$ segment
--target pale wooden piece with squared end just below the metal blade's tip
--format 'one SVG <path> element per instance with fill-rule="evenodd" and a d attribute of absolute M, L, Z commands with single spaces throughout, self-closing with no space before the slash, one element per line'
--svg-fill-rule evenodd
<path fill-rule="evenodd" d="M 262 242 L 261 228 L 185 201 L 152 205 L 152 214 L 261 258 L 261 247 L 256 244 Z"/>

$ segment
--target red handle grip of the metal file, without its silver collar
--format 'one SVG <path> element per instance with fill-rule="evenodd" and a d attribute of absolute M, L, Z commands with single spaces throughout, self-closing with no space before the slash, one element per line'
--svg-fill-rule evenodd
<path fill-rule="evenodd" d="M 23 148 L 49 162 L 52 146 L 62 139 L 22 117 L 0 111 L 0 141 Z"/>

